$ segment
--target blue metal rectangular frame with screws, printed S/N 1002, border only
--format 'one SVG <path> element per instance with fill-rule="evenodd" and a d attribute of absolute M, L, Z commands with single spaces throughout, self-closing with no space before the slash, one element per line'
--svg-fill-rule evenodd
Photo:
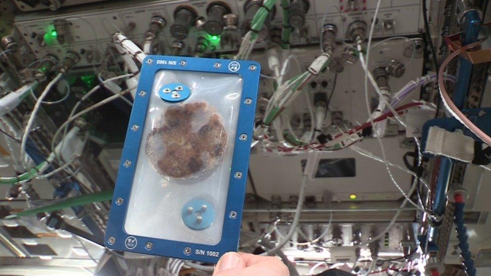
<path fill-rule="evenodd" d="M 233 148 L 222 236 L 220 242 L 213 246 L 130 235 L 124 230 L 128 207 L 126 203 L 129 201 L 133 185 L 135 164 L 138 161 L 138 151 L 153 79 L 155 73 L 161 69 L 237 74 L 242 78 L 241 103 L 237 119 L 236 140 Z M 237 250 L 260 72 L 261 66 L 258 62 L 247 60 L 156 55 L 147 56 L 143 60 L 106 228 L 104 243 L 107 248 L 210 263 L 216 263 L 225 252 Z M 244 140 L 242 134 L 246 134 L 247 139 Z M 241 135 L 242 139 L 240 139 Z"/>

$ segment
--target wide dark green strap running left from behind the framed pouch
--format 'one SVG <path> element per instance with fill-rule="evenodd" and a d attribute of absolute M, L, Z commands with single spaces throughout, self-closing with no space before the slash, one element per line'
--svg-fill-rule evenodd
<path fill-rule="evenodd" d="M 13 218 L 19 218 L 19 217 L 25 217 L 25 216 L 32 216 L 32 215 L 36 215 L 36 214 L 44 213 L 44 212 L 53 212 L 53 211 L 58 211 L 58 210 L 65 209 L 65 208 L 71 208 L 71 207 L 75 207 L 75 206 L 86 205 L 86 204 L 91 204 L 91 203 L 101 202 L 101 201 L 108 201 L 108 200 L 111 200 L 112 198 L 113 198 L 113 191 L 104 191 L 104 192 L 98 192 L 98 193 L 94 193 L 94 194 L 81 195 L 81 196 L 62 199 L 62 200 L 59 200 L 53 204 L 49 204 L 46 206 L 26 209 L 26 210 L 23 210 L 17 214 L 9 215 L 5 218 L 6 219 L 13 219 Z"/>

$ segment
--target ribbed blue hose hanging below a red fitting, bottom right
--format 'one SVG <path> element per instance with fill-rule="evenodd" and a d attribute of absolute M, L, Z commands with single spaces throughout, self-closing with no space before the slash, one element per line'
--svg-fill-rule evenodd
<path fill-rule="evenodd" d="M 454 203 L 454 223 L 455 230 L 457 230 L 457 239 L 459 240 L 460 255 L 464 259 L 465 272 L 469 276 L 476 275 L 476 269 L 474 268 L 474 261 L 469 251 L 469 244 L 467 243 L 467 229 L 464 226 L 464 206 L 463 202 Z"/>

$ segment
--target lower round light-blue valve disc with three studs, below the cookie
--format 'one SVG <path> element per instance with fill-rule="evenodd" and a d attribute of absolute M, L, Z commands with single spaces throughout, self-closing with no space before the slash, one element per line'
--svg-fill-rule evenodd
<path fill-rule="evenodd" d="M 181 217 L 189 228 L 203 230 L 213 224 L 215 208 L 206 200 L 194 199 L 183 206 Z"/>

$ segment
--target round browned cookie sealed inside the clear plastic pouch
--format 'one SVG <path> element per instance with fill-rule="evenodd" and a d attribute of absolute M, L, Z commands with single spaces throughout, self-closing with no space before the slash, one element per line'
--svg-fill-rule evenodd
<path fill-rule="evenodd" d="M 148 135 L 145 152 L 159 174 L 184 179 L 214 169 L 226 144 L 220 115 L 207 103 L 196 102 L 168 109 Z"/>

